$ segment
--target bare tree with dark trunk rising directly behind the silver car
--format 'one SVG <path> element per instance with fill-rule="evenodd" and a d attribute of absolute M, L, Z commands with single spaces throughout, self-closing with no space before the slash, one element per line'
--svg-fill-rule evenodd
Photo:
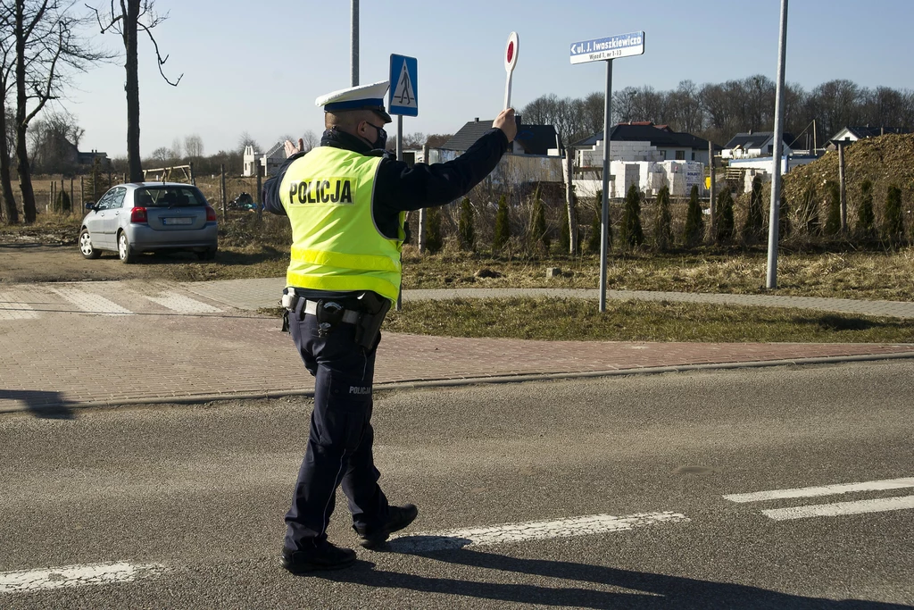
<path fill-rule="evenodd" d="M 139 32 L 144 32 L 152 41 L 155 48 L 155 59 L 158 61 L 159 74 L 169 85 L 177 87 L 184 77 L 179 76 L 175 82 L 168 80 L 162 70 L 168 56 L 162 57 L 159 45 L 153 36 L 153 28 L 168 18 L 168 14 L 157 15 L 154 11 L 154 0 L 118 0 L 119 5 L 111 0 L 111 8 L 102 13 L 95 11 L 96 19 L 101 27 L 101 33 L 113 31 L 119 34 L 124 48 L 124 69 L 127 79 L 124 89 L 127 92 L 127 165 L 130 180 L 140 182 L 143 180 L 143 163 L 140 160 L 140 79 L 138 75 L 138 50 L 137 37 Z M 91 8 L 91 7 L 90 7 Z"/>

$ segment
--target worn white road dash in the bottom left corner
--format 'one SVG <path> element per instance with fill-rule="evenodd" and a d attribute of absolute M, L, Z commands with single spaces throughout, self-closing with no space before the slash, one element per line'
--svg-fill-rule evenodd
<path fill-rule="evenodd" d="M 165 570 L 162 565 L 127 562 L 87 563 L 44 570 L 0 572 L 0 594 L 34 593 L 89 584 L 131 583 Z"/>

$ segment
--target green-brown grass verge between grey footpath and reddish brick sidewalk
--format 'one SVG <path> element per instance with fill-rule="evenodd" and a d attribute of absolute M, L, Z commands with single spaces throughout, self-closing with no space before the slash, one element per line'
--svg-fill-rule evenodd
<path fill-rule="evenodd" d="M 280 316 L 281 309 L 262 313 Z M 435 337 L 715 343 L 914 343 L 914 321 L 807 309 L 579 299 L 418 301 L 383 330 Z"/>

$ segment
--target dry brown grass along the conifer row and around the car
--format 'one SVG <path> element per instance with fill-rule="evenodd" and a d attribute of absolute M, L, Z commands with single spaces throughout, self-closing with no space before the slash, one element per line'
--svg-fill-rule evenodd
<path fill-rule="evenodd" d="M 40 214 L 33 225 L 0 225 L 0 240 L 75 246 L 81 218 L 81 214 Z M 261 219 L 255 213 L 231 211 L 228 222 L 220 222 L 216 262 L 163 264 L 161 273 L 164 278 L 179 281 L 281 276 L 288 264 L 291 240 L 287 219 L 271 214 Z M 459 251 L 452 245 L 430 255 L 407 245 L 403 262 L 403 285 L 407 289 L 596 288 L 600 278 L 596 255 L 531 256 L 508 250 L 494 256 Z M 548 268 L 558 268 L 562 273 L 547 278 Z M 784 251 L 779 257 L 779 288 L 773 291 L 763 288 L 766 273 L 764 251 L 614 252 L 608 264 L 607 285 L 614 290 L 914 301 L 914 248 L 887 252 Z M 481 277 L 484 274 L 495 276 Z"/>

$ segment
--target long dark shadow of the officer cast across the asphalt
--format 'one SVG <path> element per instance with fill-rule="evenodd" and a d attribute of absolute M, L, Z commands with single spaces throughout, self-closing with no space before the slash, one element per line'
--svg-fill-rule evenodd
<path fill-rule="evenodd" d="M 433 551 L 415 553 L 428 559 L 544 578 L 560 578 L 600 587 L 619 587 L 625 591 L 593 591 L 577 587 L 540 586 L 534 584 L 487 583 L 433 578 L 409 573 L 373 569 L 370 562 L 358 562 L 348 570 L 322 573 L 321 577 L 337 583 L 358 583 L 371 587 L 407 589 L 422 593 L 461 595 L 464 597 L 531 605 L 555 605 L 582 608 L 632 608 L 635 610 L 707 610 L 708 608 L 771 608 L 771 610 L 901 610 L 909 605 L 885 604 L 860 600 L 834 601 L 817 597 L 783 594 L 733 583 L 713 583 L 679 576 L 632 572 L 599 565 L 553 562 L 508 557 L 495 553 L 470 551 Z"/>

